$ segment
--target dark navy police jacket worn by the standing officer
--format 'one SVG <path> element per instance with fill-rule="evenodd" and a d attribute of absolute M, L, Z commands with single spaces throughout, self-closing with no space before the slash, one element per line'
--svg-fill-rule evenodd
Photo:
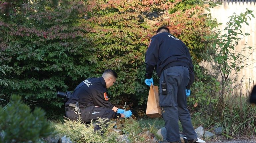
<path fill-rule="evenodd" d="M 190 71 L 191 85 L 194 81 L 193 64 L 188 47 L 178 38 L 168 32 L 153 36 L 145 54 L 146 78 L 152 78 L 156 69 L 158 77 L 161 72 L 172 66 L 185 66 Z"/>

